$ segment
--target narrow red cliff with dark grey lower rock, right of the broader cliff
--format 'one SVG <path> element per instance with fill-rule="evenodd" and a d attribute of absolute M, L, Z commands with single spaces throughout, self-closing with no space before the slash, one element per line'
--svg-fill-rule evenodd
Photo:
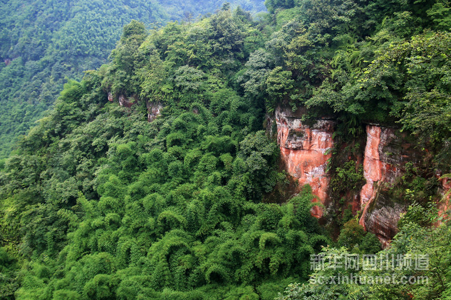
<path fill-rule="evenodd" d="M 405 211 L 407 203 L 390 199 L 386 191 L 405 171 L 407 162 L 419 163 L 421 153 L 395 128 L 367 125 L 366 134 L 363 159 L 366 184 L 360 191 L 363 210 L 360 224 L 387 246 L 397 232 L 400 214 Z"/>

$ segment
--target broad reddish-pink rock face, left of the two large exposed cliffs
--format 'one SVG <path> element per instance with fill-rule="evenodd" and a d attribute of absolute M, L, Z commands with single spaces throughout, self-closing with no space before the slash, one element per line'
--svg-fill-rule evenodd
<path fill-rule="evenodd" d="M 324 204 L 327 199 L 329 176 L 327 160 L 331 154 L 335 121 L 317 120 L 314 124 L 303 124 L 298 114 L 289 108 L 278 107 L 275 112 L 277 142 L 287 172 L 296 178 L 299 186 L 310 184 L 312 191 Z M 323 211 L 315 206 L 312 214 L 321 217 Z"/>

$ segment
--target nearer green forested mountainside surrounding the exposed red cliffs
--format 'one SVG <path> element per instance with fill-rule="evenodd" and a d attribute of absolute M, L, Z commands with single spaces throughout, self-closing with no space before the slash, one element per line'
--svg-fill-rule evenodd
<path fill-rule="evenodd" d="M 259 18 L 225 4 L 195 22 L 131 21 L 107 64 L 64 85 L 0 164 L 0 297 L 266 300 L 286 286 L 280 299 L 449 297 L 451 230 L 437 206 L 437 172 L 451 165 L 449 3 L 265 4 Z M 359 224 L 362 211 L 318 208 L 294 182 L 272 136 L 281 106 L 305 124 L 333 119 L 334 207 L 367 175 L 365 126 L 397 126 L 424 154 L 386 187 L 386 202 L 408 206 L 391 246 Z M 359 272 L 425 283 L 307 281 L 351 271 L 311 269 L 320 251 L 418 250 L 431 253 L 426 269 Z"/>

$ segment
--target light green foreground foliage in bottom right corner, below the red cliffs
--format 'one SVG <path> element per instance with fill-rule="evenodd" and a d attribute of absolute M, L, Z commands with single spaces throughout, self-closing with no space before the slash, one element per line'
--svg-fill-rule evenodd
<path fill-rule="evenodd" d="M 438 216 L 435 203 L 420 205 L 412 203 L 399 220 L 399 232 L 389 248 L 377 253 L 378 265 L 383 267 L 362 267 L 359 270 L 335 268 L 332 263 L 317 268 L 309 283 L 290 284 L 278 300 L 325 300 L 325 299 L 368 299 L 368 300 L 408 300 L 408 299 L 449 299 L 451 295 L 449 267 L 451 265 L 451 235 L 449 220 Z M 349 255 L 345 248 L 323 248 L 326 261 L 337 255 Z M 355 252 L 354 252 L 355 253 Z M 415 257 L 427 253 L 426 267 L 415 267 Z M 359 257 L 360 265 L 367 263 Z M 425 260 L 426 261 L 426 260 Z M 395 265 L 394 267 L 391 267 Z M 401 267 L 399 267 L 401 265 Z M 388 266 L 388 267 L 387 267 Z M 339 284 L 318 284 L 314 278 L 347 276 L 358 277 L 354 282 Z M 323 278 L 323 277 L 322 277 Z M 395 278 L 387 282 L 377 278 Z M 405 281 L 401 281 L 404 278 Z M 424 280 L 422 278 L 427 278 Z M 358 281 L 361 280 L 361 281 Z M 366 281 L 365 281 L 366 280 Z M 373 280 L 372 283 L 370 280 Z M 410 281 L 408 281 L 410 280 Z M 336 281 L 337 283 L 338 281 Z M 366 284 L 362 282 L 367 282 Z M 377 282 L 377 283 L 376 283 Z"/>

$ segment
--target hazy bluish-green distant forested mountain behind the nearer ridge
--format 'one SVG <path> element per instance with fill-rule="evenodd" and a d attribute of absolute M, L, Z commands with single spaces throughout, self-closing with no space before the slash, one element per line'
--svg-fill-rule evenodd
<path fill-rule="evenodd" d="M 263 0 L 230 1 L 254 12 Z M 0 7 L 0 157 L 55 101 L 66 77 L 106 62 L 124 24 L 192 21 L 222 1 L 19 1 Z"/>

